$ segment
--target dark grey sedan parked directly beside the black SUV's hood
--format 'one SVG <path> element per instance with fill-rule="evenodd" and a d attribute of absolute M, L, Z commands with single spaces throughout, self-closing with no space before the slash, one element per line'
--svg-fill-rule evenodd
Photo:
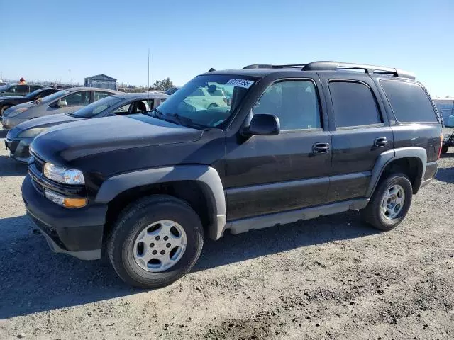
<path fill-rule="evenodd" d="M 74 122 L 91 118 L 107 117 L 109 115 L 129 115 L 146 113 L 160 106 L 167 94 L 114 94 L 95 101 L 73 113 L 47 115 L 21 123 L 9 130 L 5 145 L 10 156 L 18 162 L 28 162 L 30 157 L 28 147 L 37 135 L 48 128 L 62 123 Z"/>

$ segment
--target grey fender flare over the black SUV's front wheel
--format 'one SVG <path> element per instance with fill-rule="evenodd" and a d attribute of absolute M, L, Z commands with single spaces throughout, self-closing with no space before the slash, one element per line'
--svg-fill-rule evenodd
<path fill-rule="evenodd" d="M 226 196 L 218 171 L 206 165 L 178 165 L 143 169 L 119 174 L 106 179 L 96 195 L 96 203 L 109 203 L 118 194 L 138 186 L 174 181 L 198 181 L 203 184 L 204 194 L 214 208 L 209 226 L 209 237 L 219 239 L 226 225 Z"/>

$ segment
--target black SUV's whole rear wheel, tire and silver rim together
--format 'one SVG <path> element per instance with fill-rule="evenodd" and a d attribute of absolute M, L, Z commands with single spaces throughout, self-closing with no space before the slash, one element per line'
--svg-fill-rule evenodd
<path fill-rule="evenodd" d="M 409 178 L 405 174 L 391 174 L 377 186 L 360 215 L 370 225 L 388 231 L 404 220 L 412 198 Z"/>

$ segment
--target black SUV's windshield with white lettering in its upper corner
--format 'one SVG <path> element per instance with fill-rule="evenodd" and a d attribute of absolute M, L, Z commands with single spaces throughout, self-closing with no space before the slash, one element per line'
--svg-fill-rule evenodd
<path fill-rule="evenodd" d="M 163 119 L 173 118 L 184 125 L 223 128 L 256 79 L 216 74 L 195 77 L 167 98 L 157 111 Z"/>

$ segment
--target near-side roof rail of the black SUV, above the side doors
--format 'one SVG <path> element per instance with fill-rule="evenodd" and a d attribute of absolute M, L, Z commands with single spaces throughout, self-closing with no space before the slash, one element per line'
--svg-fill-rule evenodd
<path fill-rule="evenodd" d="M 392 67 L 382 67 L 368 64 L 352 64 L 348 62 L 310 62 L 304 65 L 303 71 L 336 71 L 338 69 L 363 69 L 365 73 L 370 74 L 389 74 L 394 77 L 415 79 L 414 74 L 403 69 L 394 69 Z"/>

